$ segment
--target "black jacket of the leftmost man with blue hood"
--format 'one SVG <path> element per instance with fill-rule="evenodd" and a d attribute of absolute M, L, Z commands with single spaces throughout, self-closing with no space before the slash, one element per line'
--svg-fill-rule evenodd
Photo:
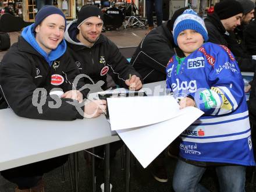
<path fill-rule="evenodd" d="M 51 83 L 53 74 L 57 74 L 55 77 L 62 84 L 57 81 L 55 82 L 57 85 Z M 49 107 L 49 105 L 56 104 L 56 99 L 58 99 L 56 95 L 53 96 L 55 99 L 50 97 L 49 92 L 52 88 L 61 88 L 64 93 L 72 90 L 73 80 L 78 74 L 79 69 L 67 52 L 56 59 L 50 67 L 47 61 L 23 37 L 19 37 L 18 42 L 13 44 L 3 56 L 0 64 L 0 109 L 9 105 L 17 115 L 33 119 L 82 119 L 83 116 L 77 112 L 74 106 L 80 105 L 73 99 L 61 98 L 62 102 L 59 107 Z M 62 80 L 58 79 L 60 76 L 63 77 Z M 82 86 L 83 84 L 79 83 L 76 89 L 78 90 Z M 33 100 L 33 93 L 37 88 L 44 88 L 46 92 L 38 92 L 38 99 Z M 42 105 L 42 113 L 40 113 L 36 102 L 43 103 L 44 101 L 45 104 Z M 67 101 L 74 102 L 74 105 Z"/>

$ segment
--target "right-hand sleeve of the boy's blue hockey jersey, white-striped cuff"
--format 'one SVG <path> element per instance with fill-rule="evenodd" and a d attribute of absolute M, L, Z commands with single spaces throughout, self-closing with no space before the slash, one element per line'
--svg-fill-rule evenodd
<path fill-rule="evenodd" d="M 207 115 L 230 113 L 245 99 L 243 79 L 232 52 L 223 45 L 216 46 L 215 63 L 205 69 L 209 88 L 199 88 L 193 95 L 197 108 Z"/>

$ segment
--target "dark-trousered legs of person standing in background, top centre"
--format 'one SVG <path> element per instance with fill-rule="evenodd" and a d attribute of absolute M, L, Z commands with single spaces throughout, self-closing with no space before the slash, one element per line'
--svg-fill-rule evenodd
<path fill-rule="evenodd" d="M 161 26 L 163 22 L 163 2 L 162 0 L 146 0 L 146 13 L 148 20 L 148 29 L 154 29 L 153 10 L 155 7 L 155 15 L 157 16 L 157 26 Z"/>

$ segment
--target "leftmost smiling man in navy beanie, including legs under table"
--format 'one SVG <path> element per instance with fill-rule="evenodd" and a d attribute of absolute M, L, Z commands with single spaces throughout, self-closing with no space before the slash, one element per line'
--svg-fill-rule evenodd
<path fill-rule="evenodd" d="M 44 6 L 37 13 L 35 23 L 24 28 L 18 42 L 1 61 L 0 109 L 9 106 L 24 118 L 46 120 L 83 119 L 105 111 L 105 101 L 81 103 L 87 90 L 83 94 L 77 91 L 84 83 L 74 81 L 80 73 L 66 51 L 65 27 L 62 11 L 54 6 Z M 62 93 L 57 95 L 56 90 Z M 43 192 L 44 173 L 63 165 L 66 160 L 67 155 L 64 155 L 3 170 L 1 175 L 17 184 L 16 192 Z"/>

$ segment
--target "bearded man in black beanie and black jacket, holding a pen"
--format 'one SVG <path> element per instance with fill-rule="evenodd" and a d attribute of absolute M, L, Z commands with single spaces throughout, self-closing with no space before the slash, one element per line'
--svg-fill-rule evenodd
<path fill-rule="evenodd" d="M 142 87 L 140 75 L 119 52 L 118 47 L 101 34 L 102 19 L 103 13 L 97 6 L 81 8 L 78 19 L 70 23 L 65 32 L 70 55 L 80 73 L 88 76 L 85 83 L 91 84 L 91 80 L 94 83 L 104 81 L 102 89 L 105 90 L 106 74 L 109 74 L 120 87 L 139 90 Z"/>

